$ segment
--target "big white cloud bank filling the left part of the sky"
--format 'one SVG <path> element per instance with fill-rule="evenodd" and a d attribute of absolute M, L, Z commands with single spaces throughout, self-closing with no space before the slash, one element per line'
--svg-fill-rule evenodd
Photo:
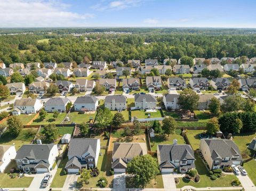
<path fill-rule="evenodd" d="M 0 27 L 79 27 L 93 14 L 67 11 L 59 1 L 0 0 Z"/>

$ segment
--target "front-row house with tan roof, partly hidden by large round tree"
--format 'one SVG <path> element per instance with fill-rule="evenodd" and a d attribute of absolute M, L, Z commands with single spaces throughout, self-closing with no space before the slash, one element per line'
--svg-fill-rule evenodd
<path fill-rule="evenodd" d="M 111 167 L 114 172 L 125 172 L 128 162 L 136 156 L 146 154 L 146 143 L 114 143 Z"/>

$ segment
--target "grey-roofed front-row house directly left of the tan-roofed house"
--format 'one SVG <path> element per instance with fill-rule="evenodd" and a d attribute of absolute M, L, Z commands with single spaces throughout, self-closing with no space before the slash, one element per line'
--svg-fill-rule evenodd
<path fill-rule="evenodd" d="M 100 139 L 71 139 L 68 145 L 66 171 L 78 173 L 83 168 L 97 167 L 100 154 Z"/>

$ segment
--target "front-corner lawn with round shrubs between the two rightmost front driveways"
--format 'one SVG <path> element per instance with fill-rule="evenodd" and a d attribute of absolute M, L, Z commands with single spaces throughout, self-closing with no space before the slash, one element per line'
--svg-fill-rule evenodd
<path fill-rule="evenodd" d="M 211 180 L 209 177 L 209 171 L 206 169 L 203 161 L 197 155 L 195 155 L 195 157 L 196 170 L 200 176 L 200 181 L 196 183 L 185 178 L 180 178 L 180 183 L 177 185 L 177 188 L 182 188 L 183 186 L 194 186 L 196 188 L 231 187 L 231 181 L 237 179 L 235 175 L 226 175 L 225 177 Z"/>

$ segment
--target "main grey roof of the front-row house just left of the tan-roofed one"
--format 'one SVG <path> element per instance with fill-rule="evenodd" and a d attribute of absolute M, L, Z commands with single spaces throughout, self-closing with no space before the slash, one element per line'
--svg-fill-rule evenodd
<path fill-rule="evenodd" d="M 96 157 L 98 139 L 76 138 L 71 139 L 68 147 L 68 156 L 82 156 L 85 153 Z"/>

